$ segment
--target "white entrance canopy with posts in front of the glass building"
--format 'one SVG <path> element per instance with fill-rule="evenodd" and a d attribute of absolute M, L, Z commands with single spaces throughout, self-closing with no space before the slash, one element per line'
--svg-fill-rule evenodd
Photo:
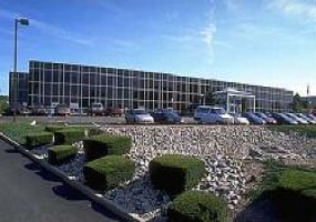
<path fill-rule="evenodd" d="M 251 92 L 238 91 L 233 88 L 226 88 L 221 91 L 213 92 L 218 100 L 224 100 L 227 112 L 241 112 L 243 110 L 242 100 L 252 100 L 253 112 L 256 108 L 256 97 Z"/>

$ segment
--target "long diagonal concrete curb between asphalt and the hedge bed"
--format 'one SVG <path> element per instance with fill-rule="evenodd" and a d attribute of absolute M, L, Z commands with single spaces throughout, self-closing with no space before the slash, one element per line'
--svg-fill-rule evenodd
<path fill-rule="evenodd" d="M 120 206 L 115 205 L 113 202 L 103 199 L 102 194 L 93 191 L 92 189 L 88 188 L 86 185 L 83 185 L 82 183 L 72 180 L 71 176 L 67 176 L 62 171 L 58 170 L 57 168 L 50 165 L 47 161 L 37 158 L 34 154 L 32 154 L 29 150 L 24 149 L 23 145 L 20 145 L 18 142 L 11 140 L 9 137 L 4 135 L 2 132 L 0 132 L 0 139 L 6 141 L 7 143 L 11 144 L 17 149 L 20 153 L 22 153 L 24 157 L 29 158 L 31 161 L 35 162 L 37 164 L 41 165 L 44 170 L 49 171 L 50 173 L 54 174 L 59 179 L 61 179 L 64 183 L 72 186 L 73 189 L 81 192 L 83 195 L 85 195 L 90 201 L 93 201 L 100 205 L 102 205 L 104 209 L 106 209 L 110 213 L 114 214 L 120 219 L 120 221 L 126 221 L 126 222 L 137 222 L 142 221 L 142 219 L 131 215 L 126 213 L 124 210 L 122 210 Z"/>

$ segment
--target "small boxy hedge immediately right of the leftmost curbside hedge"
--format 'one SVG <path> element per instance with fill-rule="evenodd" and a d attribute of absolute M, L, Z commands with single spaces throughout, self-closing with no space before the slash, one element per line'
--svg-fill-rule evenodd
<path fill-rule="evenodd" d="M 83 140 L 84 135 L 84 129 L 63 129 L 54 132 L 54 144 L 72 144 Z"/>

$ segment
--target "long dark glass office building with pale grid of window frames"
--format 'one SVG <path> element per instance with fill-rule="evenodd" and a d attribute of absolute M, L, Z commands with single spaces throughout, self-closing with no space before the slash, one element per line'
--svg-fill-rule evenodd
<path fill-rule="evenodd" d="M 185 110 L 203 103 L 207 93 L 226 88 L 253 93 L 259 111 L 288 110 L 293 101 L 293 91 L 279 88 L 43 61 L 30 61 L 28 82 L 29 105 L 77 103 L 88 108 L 101 102 L 105 107 Z"/>

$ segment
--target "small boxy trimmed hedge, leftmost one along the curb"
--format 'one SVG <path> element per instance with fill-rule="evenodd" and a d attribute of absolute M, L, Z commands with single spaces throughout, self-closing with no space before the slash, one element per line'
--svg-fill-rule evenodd
<path fill-rule="evenodd" d="M 26 147 L 32 149 L 34 147 L 50 144 L 53 141 L 51 132 L 35 132 L 26 135 Z"/>

